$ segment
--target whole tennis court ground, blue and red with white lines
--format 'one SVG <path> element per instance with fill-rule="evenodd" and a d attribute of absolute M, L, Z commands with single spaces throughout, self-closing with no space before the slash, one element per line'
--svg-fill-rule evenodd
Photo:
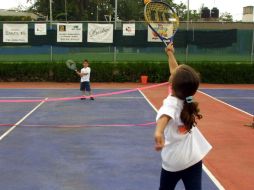
<path fill-rule="evenodd" d="M 45 85 L 43 88 L 31 88 L 33 85 L 28 85 L 29 88 L 17 88 L 20 84 L 16 87 L 14 85 L 15 88 L 10 88 L 10 84 L 7 88 L 5 85 L 2 86 L 0 90 L 2 101 L 18 99 L 31 102 L 0 103 L 1 189 L 158 188 L 161 159 L 160 154 L 154 151 L 152 136 L 155 110 L 167 95 L 167 86 L 133 90 L 138 85 L 127 85 L 124 89 L 124 85 L 120 89 L 110 88 L 107 85 L 102 88 L 103 84 L 95 85 L 98 86 L 94 90 L 95 96 L 126 90 L 131 92 L 101 96 L 95 101 L 73 99 L 47 102 L 47 98 L 57 100 L 62 97 L 78 97 L 80 94 L 78 89 L 68 84 L 67 88 L 45 88 Z M 221 156 L 226 155 L 226 158 L 232 156 L 228 153 L 228 148 L 223 147 L 221 143 L 228 141 L 230 144 L 232 140 L 229 140 L 230 136 L 218 137 L 223 133 L 218 131 L 218 128 L 224 127 L 228 130 L 227 124 L 219 126 L 220 121 L 217 121 L 218 128 L 211 127 L 209 120 L 218 115 L 207 113 L 212 107 L 209 108 L 204 103 L 213 104 L 214 108 L 218 109 L 214 98 L 224 101 L 227 97 L 229 100 L 225 101 L 227 104 L 237 106 L 244 112 L 218 101 L 216 101 L 217 106 L 230 109 L 227 112 L 229 116 L 237 112 L 242 119 L 244 118 L 238 122 L 247 124 L 251 122 L 251 112 L 253 112 L 253 89 L 201 88 L 200 90 L 196 97 L 204 115 L 204 119 L 200 121 L 200 129 L 214 147 L 204 161 L 208 170 L 204 168 L 203 189 L 215 190 L 228 187 L 237 189 L 242 185 L 251 188 L 248 177 L 253 175 L 253 170 L 249 164 L 253 162 L 251 156 L 254 154 L 246 145 L 250 145 L 247 143 L 248 139 L 253 144 L 252 129 L 244 125 L 237 126 L 238 136 L 234 136 L 233 141 L 240 140 L 242 145 L 235 149 L 235 154 L 238 156 L 234 155 L 235 158 L 230 159 L 232 161 L 237 159 L 238 164 L 221 162 L 223 160 Z M 243 108 L 236 105 L 235 101 L 231 102 L 235 99 L 238 105 L 249 106 Z M 227 113 L 220 113 L 224 121 L 227 120 L 225 118 Z M 223 120 L 221 122 L 223 123 Z M 250 133 L 249 138 L 243 141 L 241 138 L 246 132 Z M 231 148 L 236 148 L 234 146 L 235 144 L 231 144 Z M 241 155 L 248 153 L 249 157 L 242 157 L 239 151 L 242 151 Z M 235 173 L 228 174 L 231 170 L 223 169 L 225 164 L 230 165 Z M 234 178 L 246 172 L 249 172 L 247 181 L 232 185 Z M 217 179 L 214 179 L 214 176 Z M 9 180 L 10 178 L 12 180 Z M 181 182 L 177 189 L 184 189 Z"/>

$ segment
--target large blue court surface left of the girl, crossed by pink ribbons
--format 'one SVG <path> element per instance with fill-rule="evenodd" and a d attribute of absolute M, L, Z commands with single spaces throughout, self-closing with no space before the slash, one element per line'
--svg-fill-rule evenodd
<path fill-rule="evenodd" d="M 113 91 L 96 89 L 94 94 Z M 80 92 L 0 89 L 0 94 L 1 99 L 41 99 Z M 1 124 L 20 123 L 16 128 L 0 127 L 0 189 L 158 189 L 161 158 L 153 148 L 154 125 L 120 126 L 155 121 L 156 112 L 138 91 L 95 101 L 0 106 Z M 205 190 L 218 189 L 205 172 L 202 182 Z M 183 184 L 176 189 L 184 189 Z"/>

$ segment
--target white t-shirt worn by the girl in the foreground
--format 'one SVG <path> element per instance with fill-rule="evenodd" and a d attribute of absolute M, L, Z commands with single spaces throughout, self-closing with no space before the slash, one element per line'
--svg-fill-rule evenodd
<path fill-rule="evenodd" d="M 156 117 L 156 120 L 162 115 L 171 117 L 164 130 L 165 146 L 161 152 L 162 168 L 171 172 L 198 163 L 212 148 L 197 127 L 193 127 L 190 133 L 179 132 L 179 126 L 183 125 L 180 118 L 182 108 L 183 100 L 169 95 Z"/>

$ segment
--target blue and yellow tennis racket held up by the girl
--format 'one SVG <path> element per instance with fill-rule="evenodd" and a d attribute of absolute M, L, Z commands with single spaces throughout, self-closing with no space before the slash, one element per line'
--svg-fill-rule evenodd
<path fill-rule="evenodd" d="M 179 18 L 172 7 L 162 1 L 150 1 L 145 5 L 144 16 L 148 26 L 165 46 L 173 42 Z"/>

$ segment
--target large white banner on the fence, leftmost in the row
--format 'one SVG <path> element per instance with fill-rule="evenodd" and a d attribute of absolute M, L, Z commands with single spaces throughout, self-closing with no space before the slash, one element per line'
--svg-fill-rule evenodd
<path fill-rule="evenodd" d="M 3 24 L 3 42 L 28 43 L 28 25 Z"/>

